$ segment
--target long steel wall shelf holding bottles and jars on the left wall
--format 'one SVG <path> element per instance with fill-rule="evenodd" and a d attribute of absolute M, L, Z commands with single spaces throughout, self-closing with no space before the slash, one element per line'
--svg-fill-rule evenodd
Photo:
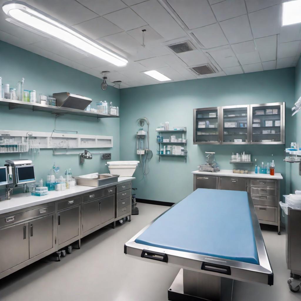
<path fill-rule="evenodd" d="M 70 108 L 63 108 L 63 107 L 55 107 L 55 106 L 48 106 L 44 104 L 34 104 L 31 102 L 24 102 L 12 99 L 4 99 L 0 98 L 0 105 L 9 107 L 10 110 L 12 109 L 29 109 L 32 111 L 40 111 L 40 112 L 47 112 L 52 114 L 70 114 L 70 115 L 77 115 L 77 116 L 86 116 L 86 117 L 93 117 L 93 118 L 119 118 L 119 116 L 108 115 L 103 113 L 96 113 L 96 112 L 89 112 L 84 110 L 78 109 L 70 109 Z"/>

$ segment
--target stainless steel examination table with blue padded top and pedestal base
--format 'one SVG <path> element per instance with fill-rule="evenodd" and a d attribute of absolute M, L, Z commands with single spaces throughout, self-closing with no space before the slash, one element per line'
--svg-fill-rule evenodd
<path fill-rule="evenodd" d="M 168 290 L 172 301 L 231 300 L 233 279 L 273 284 L 253 202 L 245 191 L 197 189 L 132 237 L 124 253 L 180 267 Z"/>

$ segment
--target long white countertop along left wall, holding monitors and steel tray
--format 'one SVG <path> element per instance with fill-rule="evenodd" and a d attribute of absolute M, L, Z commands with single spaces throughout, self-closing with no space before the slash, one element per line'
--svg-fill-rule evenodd
<path fill-rule="evenodd" d="M 95 191 L 97 189 L 106 188 L 134 179 L 135 178 L 133 177 L 119 177 L 118 182 L 102 185 L 99 187 L 76 185 L 74 188 L 67 189 L 65 191 L 48 191 L 48 195 L 42 197 L 31 195 L 31 193 L 12 194 L 11 200 L 0 201 L 0 214 L 24 209 L 31 206 L 41 205 L 56 200 L 61 200 L 67 197 L 74 197 L 79 194 Z"/>

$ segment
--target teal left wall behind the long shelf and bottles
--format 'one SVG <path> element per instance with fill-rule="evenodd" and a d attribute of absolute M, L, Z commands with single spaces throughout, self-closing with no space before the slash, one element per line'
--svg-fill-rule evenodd
<path fill-rule="evenodd" d="M 85 95 L 95 102 L 106 100 L 119 106 L 119 89 L 108 87 L 101 90 L 101 79 L 49 60 L 24 49 L 0 41 L 0 76 L 2 83 L 16 85 L 17 81 L 25 78 L 24 88 L 36 90 L 37 93 L 52 95 L 53 92 L 72 92 Z M 94 105 L 93 105 L 94 104 Z M 0 107 L 0 129 L 28 130 L 52 132 L 54 129 L 54 115 L 50 113 L 32 112 L 25 109 L 9 110 Z M 57 118 L 57 129 L 78 131 L 79 134 L 113 136 L 113 148 L 89 149 L 90 151 L 104 151 L 112 153 L 112 160 L 119 160 L 119 118 L 95 118 L 82 116 L 60 116 Z M 82 149 L 71 149 L 70 152 L 81 152 Z M 30 158 L 28 153 L 21 154 L 21 158 Z M 0 154 L 0 166 L 7 159 L 19 159 L 19 154 Z M 72 168 L 73 175 L 91 172 L 108 172 L 105 161 L 100 155 L 93 155 L 92 160 L 79 164 L 79 156 L 53 156 L 51 149 L 41 150 L 35 155 L 33 163 L 36 166 L 36 178 L 46 178 L 53 163 L 61 169 Z"/>

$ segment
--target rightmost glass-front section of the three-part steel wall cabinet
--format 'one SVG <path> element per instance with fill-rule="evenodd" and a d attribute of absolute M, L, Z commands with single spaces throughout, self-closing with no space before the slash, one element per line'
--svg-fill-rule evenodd
<path fill-rule="evenodd" d="M 251 144 L 285 143 L 285 103 L 251 104 Z"/>

